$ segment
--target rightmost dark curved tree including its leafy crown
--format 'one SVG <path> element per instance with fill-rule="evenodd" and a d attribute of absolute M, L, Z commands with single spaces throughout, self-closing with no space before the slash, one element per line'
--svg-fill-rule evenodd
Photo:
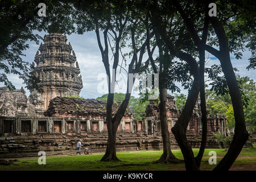
<path fill-rule="evenodd" d="M 175 1 L 175 6 L 179 11 L 180 15 L 183 17 L 187 29 L 191 32 L 191 36 L 193 41 L 195 42 L 195 45 L 197 47 L 200 47 L 200 37 L 197 33 L 199 27 L 197 27 L 195 19 L 192 17 L 191 7 L 196 7 L 196 9 L 194 9 L 196 14 L 200 14 L 202 11 L 205 12 L 209 10 L 205 10 L 205 7 L 208 7 L 210 2 L 204 2 L 203 5 L 205 4 L 206 6 L 203 6 L 202 9 L 198 8 L 198 3 L 195 3 L 193 6 L 191 6 L 191 2 L 181 2 L 183 3 L 182 5 L 180 1 Z M 234 118 L 236 121 L 234 138 L 232 140 L 232 143 L 230 144 L 229 151 L 221 160 L 221 162 L 218 163 L 217 167 L 214 168 L 214 170 L 228 170 L 232 166 L 234 160 L 236 160 L 237 156 L 240 154 L 242 147 L 248 138 L 248 133 L 245 126 L 245 117 L 243 114 L 240 89 L 238 87 L 232 63 L 230 61 L 230 52 L 234 52 L 236 57 L 241 57 L 241 52 L 238 51 L 242 49 L 242 47 L 240 47 L 242 46 L 241 43 L 243 42 L 241 40 L 242 36 L 245 35 L 247 37 L 250 37 L 251 35 L 252 26 L 246 28 L 239 24 L 240 22 L 253 22 L 251 19 L 251 11 L 248 12 L 246 10 L 247 12 L 245 12 L 244 9 L 246 6 L 249 5 L 250 2 L 251 1 L 234 1 L 230 3 L 227 3 L 226 1 L 220 1 L 218 3 L 216 2 L 217 5 L 220 5 L 218 6 L 220 7 L 218 8 L 218 16 L 209 17 L 210 24 L 212 25 L 213 30 L 217 35 L 217 46 L 219 46 L 220 50 L 218 51 L 216 48 L 213 48 L 209 45 L 206 45 L 205 49 L 220 60 L 222 71 L 224 73 L 229 88 L 229 94 L 232 99 Z M 249 10 L 250 9 L 251 8 L 249 7 Z M 249 20 L 245 18 L 245 14 L 249 15 Z M 234 22 L 237 23 L 236 26 L 234 26 Z M 228 31 L 232 30 L 232 28 L 235 29 L 235 27 L 236 30 L 234 32 L 236 33 L 236 35 L 228 35 Z M 242 30 L 243 33 L 241 34 Z"/>

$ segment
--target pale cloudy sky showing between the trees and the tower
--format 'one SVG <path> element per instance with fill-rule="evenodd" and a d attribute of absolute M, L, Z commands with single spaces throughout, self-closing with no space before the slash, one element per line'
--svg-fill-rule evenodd
<path fill-rule="evenodd" d="M 35 32 L 41 35 L 42 37 L 46 34 L 46 32 Z M 104 77 L 105 77 L 105 69 L 104 65 L 101 61 L 101 53 L 100 49 L 98 48 L 97 44 L 97 38 L 95 32 L 86 32 L 84 35 L 67 35 L 68 42 L 71 43 L 71 46 L 73 50 L 76 53 L 77 61 L 79 63 L 81 75 L 82 75 L 82 84 L 84 88 L 82 88 L 80 96 L 84 98 L 97 98 L 102 96 L 105 92 L 102 92 L 102 88 L 104 88 L 104 85 L 102 83 L 106 83 Z M 40 42 L 43 43 L 43 40 Z M 24 60 L 28 61 L 29 63 L 32 63 L 34 61 L 34 57 L 36 54 L 36 51 L 39 48 L 39 44 L 36 44 L 35 42 L 28 42 L 30 45 L 30 48 L 24 51 L 24 54 L 26 57 L 23 57 Z M 127 49 L 126 49 L 127 51 Z M 155 56 L 157 54 L 155 53 Z M 210 65 L 213 64 L 220 64 L 219 61 L 216 59 L 216 57 L 212 55 L 208 55 L 208 52 L 206 54 L 206 57 L 209 57 L 207 67 L 210 67 Z M 243 53 L 243 57 L 240 60 L 237 60 L 232 57 L 232 64 L 233 67 L 236 67 L 240 72 L 238 74 L 240 76 L 249 76 L 251 79 L 256 81 L 256 75 L 254 70 L 247 71 L 246 67 L 249 65 L 249 57 L 250 52 L 246 51 Z M 147 58 L 147 57 L 146 57 Z M 118 70 L 119 71 L 119 70 Z M 123 72 L 123 76 L 125 76 L 125 72 Z M 25 87 L 26 85 L 22 84 L 22 80 L 20 80 L 16 75 L 8 75 L 8 78 L 10 81 L 13 82 L 14 86 L 16 88 L 20 88 L 21 86 Z M 117 86 L 117 90 L 115 92 L 122 92 L 125 90 L 125 81 L 123 81 L 122 76 L 119 75 L 119 88 Z M 180 84 L 177 84 L 178 86 Z M 0 83 L 0 86 L 3 86 L 3 83 Z M 182 89 L 182 88 L 181 88 Z M 106 88 L 105 88 L 106 90 Z M 187 94 L 187 90 L 182 89 L 181 93 Z M 26 89 L 26 94 L 29 95 L 30 92 Z M 138 93 L 133 91 L 133 96 L 138 96 Z"/>

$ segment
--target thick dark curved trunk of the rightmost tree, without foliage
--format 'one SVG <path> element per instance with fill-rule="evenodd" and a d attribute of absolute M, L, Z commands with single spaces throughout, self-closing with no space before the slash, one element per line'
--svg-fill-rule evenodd
<path fill-rule="evenodd" d="M 214 168 L 215 171 L 220 171 L 228 170 L 232 166 L 240 154 L 243 145 L 247 141 L 249 134 L 246 130 L 240 89 L 238 87 L 236 75 L 234 74 L 234 69 L 230 61 L 228 38 L 226 37 L 222 23 L 220 23 L 216 17 L 210 18 L 210 22 L 212 23 L 214 31 L 218 36 L 218 42 L 220 43 L 220 52 L 214 56 L 220 60 L 221 68 L 229 88 L 229 94 L 234 110 L 234 119 L 236 121 L 234 137 L 230 144 L 229 150 L 220 163 L 218 163 L 216 168 Z"/>

